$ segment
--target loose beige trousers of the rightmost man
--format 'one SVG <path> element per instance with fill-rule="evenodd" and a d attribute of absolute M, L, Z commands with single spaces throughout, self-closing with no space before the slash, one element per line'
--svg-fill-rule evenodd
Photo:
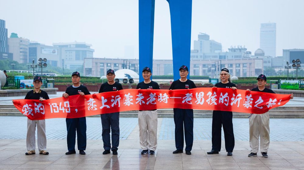
<path fill-rule="evenodd" d="M 260 149 L 262 152 L 267 152 L 269 148 L 269 113 L 252 114 L 249 118 L 249 144 L 251 152 L 257 153 L 259 151 L 259 137 Z"/>

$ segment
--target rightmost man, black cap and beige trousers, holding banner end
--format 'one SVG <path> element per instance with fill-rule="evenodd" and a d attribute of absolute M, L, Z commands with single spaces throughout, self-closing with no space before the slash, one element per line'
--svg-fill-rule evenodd
<path fill-rule="evenodd" d="M 251 91 L 254 92 L 265 92 L 265 93 L 275 93 L 269 88 L 265 88 L 267 83 L 266 76 L 261 74 L 257 77 L 257 87 L 253 88 Z M 249 89 L 247 89 L 250 91 Z M 293 94 L 290 95 L 293 98 Z M 269 113 L 264 114 L 250 114 L 249 116 L 249 144 L 251 153 L 248 157 L 257 156 L 259 151 L 259 137 L 261 142 L 261 154 L 263 158 L 268 158 L 267 152 L 269 147 Z"/>

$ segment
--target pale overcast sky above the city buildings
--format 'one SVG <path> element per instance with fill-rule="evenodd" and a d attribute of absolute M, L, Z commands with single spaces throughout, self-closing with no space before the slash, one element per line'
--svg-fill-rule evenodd
<path fill-rule="evenodd" d="M 276 55 L 304 48 L 303 0 L 193 0 L 193 41 L 199 32 L 222 43 L 260 46 L 261 23 L 277 23 Z M 94 57 L 138 58 L 138 0 L 0 0 L 0 19 L 8 34 L 45 45 L 86 42 Z M 172 59 L 171 24 L 166 0 L 155 0 L 154 59 Z"/>

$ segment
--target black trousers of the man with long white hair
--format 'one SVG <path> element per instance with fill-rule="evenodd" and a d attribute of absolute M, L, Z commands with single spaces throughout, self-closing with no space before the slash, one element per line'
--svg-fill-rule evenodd
<path fill-rule="evenodd" d="M 234 134 L 232 112 L 213 111 L 212 115 L 212 150 L 221 151 L 222 125 L 225 136 L 226 152 L 233 152 Z"/>

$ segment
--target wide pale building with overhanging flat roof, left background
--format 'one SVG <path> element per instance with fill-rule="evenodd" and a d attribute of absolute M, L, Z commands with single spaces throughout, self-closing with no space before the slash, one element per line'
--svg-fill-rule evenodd
<path fill-rule="evenodd" d="M 59 48 L 59 58 L 62 61 L 61 67 L 66 69 L 77 69 L 83 66 L 85 58 L 93 58 L 94 49 L 91 44 L 85 42 L 53 43 Z"/>

